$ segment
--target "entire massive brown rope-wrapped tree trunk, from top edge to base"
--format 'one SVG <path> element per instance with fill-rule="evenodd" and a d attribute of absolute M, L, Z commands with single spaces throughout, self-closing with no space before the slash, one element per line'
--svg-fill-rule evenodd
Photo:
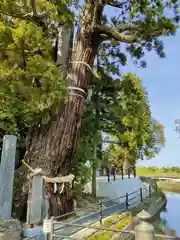
<path fill-rule="evenodd" d="M 36 129 L 27 141 L 25 162 L 32 168 L 42 168 L 46 176 L 67 175 L 75 154 L 77 136 L 84 112 L 88 82 L 94 58 L 99 46 L 94 36 L 92 25 L 94 15 L 93 1 L 84 4 L 84 16 L 77 32 L 72 64 L 68 74 L 68 86 L 71 88 L 61 112 L 47 125 Z M 100 14 L 101 16 L 101 14 Z M 85 93 L 83 93 L 85 92 Z M 69 192 L 71 189 L 69 189 Z M 66 192 L 67 193 L 67 192 Z M 55 197 L 52 195 L 52 204 Z M 65 206 L 65 202 L 68 204 Z M 61 203 L 62 213 L 71 212 L 73 207 L 72 194 L 56 194 L 56 204 Z M 58 209 L 56 207 L 56 209 Z M 53 215 L 58 215 L 57 210 Z"/>

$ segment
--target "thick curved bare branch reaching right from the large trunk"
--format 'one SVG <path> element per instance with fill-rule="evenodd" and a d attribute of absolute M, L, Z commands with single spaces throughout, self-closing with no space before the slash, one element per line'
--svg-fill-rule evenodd
<path fill-rule="evenodd" d="M 106 25 L 101 25 L 96 27 L 96 31 L 99 34 L 105 34 L 109 39 L 113 38 L 120 42 L 126 43 L 134 43 L 137 41 L 137 37 L 135 35 L 125 35 L 121 34 L 118 29 L 110 28 Z"/>

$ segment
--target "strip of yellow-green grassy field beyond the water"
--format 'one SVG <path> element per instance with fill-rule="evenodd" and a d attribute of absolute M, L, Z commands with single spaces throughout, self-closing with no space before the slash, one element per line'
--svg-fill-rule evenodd
<path fill-rule="evenodd" d="M 177 169 L 178 171 L 179 169 Z M 137 176 L 154 176 L 154 177 L 172 177 L 180 178 L 180 172 L 173 171 L 173 168 L 150 168 L 150 167 L 137 167 Z"/>

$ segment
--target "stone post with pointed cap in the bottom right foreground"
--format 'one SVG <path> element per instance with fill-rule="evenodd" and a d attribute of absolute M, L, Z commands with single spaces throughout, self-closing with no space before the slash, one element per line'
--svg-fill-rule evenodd
<path fill-rule="evenodd" d="M 151 215 L 142 210 L 137 217 L 140 223 L 135 227 L 135 240 L 155 240 L 154 227 L 150 223 Z"/>

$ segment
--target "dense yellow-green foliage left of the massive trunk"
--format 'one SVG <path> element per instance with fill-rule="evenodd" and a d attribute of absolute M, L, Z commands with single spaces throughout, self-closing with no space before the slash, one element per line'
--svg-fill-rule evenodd
<path fill-rule="evenodd" d="M 67 3 L 36 1 L 33 6 L 1 1 L 0 137 L 24 136 L 33 126 L 47 123 L 65 98 L 65 82 L 52 58 L 52 40 L 55 21 L 73 22 L 63 7 Z"/>

